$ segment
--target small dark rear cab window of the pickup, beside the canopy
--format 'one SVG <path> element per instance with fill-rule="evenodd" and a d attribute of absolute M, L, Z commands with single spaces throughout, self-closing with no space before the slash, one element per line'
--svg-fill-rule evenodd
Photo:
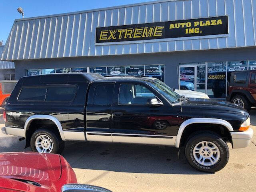
<path fill-rule="evenodd" d="M 94 89 L 94 105 L 111 105 L 113 98 L 114 84 L 100 84 Z"/>

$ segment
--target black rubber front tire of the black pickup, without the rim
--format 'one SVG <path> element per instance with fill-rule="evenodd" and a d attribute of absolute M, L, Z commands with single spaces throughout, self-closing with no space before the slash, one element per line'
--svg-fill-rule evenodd
<path fill-rule="evenodd" d="M 218 161 L 215 164 L 206 166 L 206 165 L 202 165 L 196 161 L 194 154 L 193 154 L 193 150 L 196 147 L 196 145 L 202 141 L 212 142 L 218 148 L 220 155 L 219 155 Z M 207 152 L 206 152 L 206 154 L 207 154 Z M 198 155 L 200 155 L 200 154 L 198 153 Z M 214 172 L 217 172 L 217 171 L 221 170 L 222 168 L 224 168 L 226 166 L 226 164 L 228 163 L 229 149 L 228 149 L 226 142 L 224 142 L 224 140 L 222 140 L 222 138 L 215 132 L 199 131 L 199 132 L 195 132 L 193 135 L 191 135 L 188 138 L 186 145 L 185 145 L 185 157 L 186 157 L 188 163 L 194 169 L 202 171 L 202 172 L 214 173 Z M 210 160 L 208 160 L 208 161 L 210 161 Z"/>

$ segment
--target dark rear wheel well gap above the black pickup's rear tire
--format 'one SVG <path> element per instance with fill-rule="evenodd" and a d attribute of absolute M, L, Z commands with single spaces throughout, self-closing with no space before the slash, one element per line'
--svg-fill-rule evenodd
<path fill-rule="evenodd" d="M 44 127 L 45 129 L 51 130 L 57 136 L 60 137 L 60 132 L 58 130 L 58 127 L 52 120 L 50 120 L 50 119 L 34 119 L 30 122 L 30 125 L 26 129 L 26 147 L 25 148 L 30 146 L 30 138 L 31 138 L 32 134 L 36 130 L 38 130 L 42 127 Z"/>

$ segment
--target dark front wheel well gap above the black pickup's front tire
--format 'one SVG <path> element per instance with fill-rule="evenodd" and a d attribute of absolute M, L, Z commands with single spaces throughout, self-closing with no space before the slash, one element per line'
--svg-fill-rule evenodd
<path fill-rule="evenodd" d="M 186 126 L 184 129 L 181 139 L 180 147 L 186 144 L 188 137 L 196 131 L 208 130 L 219 134 L 222 139 L 226 142 L 232 142 L 230 131 L 220 124 L 207 124 L 207 123 L 194 123 Z"/>

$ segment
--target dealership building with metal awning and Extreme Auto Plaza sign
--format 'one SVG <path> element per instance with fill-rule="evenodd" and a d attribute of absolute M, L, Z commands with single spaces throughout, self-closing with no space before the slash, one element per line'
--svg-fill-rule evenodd
<path fill-rule="evenodd" d="M 15 76 L 144 75 L 225 98 L 256 69 L 256 0 L 158 0 L 17 19 L 2 53 Z"/>

